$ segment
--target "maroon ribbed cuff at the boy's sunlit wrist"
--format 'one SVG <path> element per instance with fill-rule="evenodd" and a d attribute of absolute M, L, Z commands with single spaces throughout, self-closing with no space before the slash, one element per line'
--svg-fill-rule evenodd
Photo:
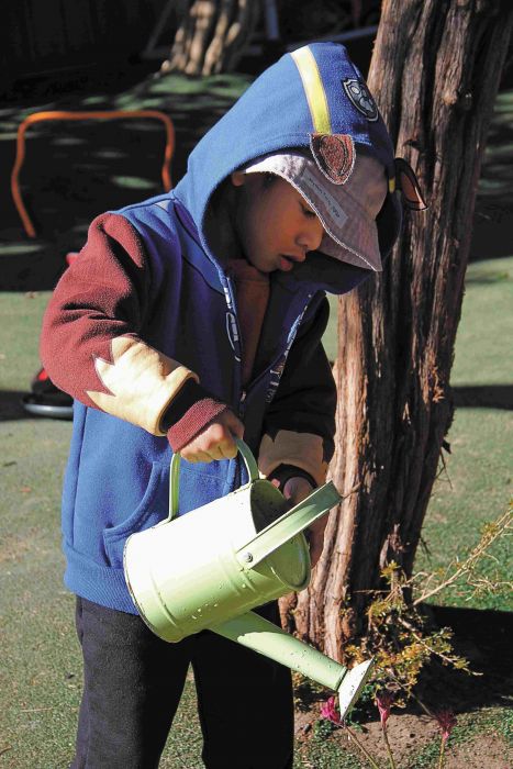
<path fill-rule="evenodd" d="M 193 379 L 189 379 L 167 408 L 160 426 L 174 452 L 180 452 L 226 409 Z"/>

